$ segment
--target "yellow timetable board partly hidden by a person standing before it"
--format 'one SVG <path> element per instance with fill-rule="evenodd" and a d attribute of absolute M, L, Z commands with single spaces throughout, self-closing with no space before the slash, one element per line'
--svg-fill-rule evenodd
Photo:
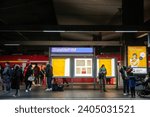
<path fill-rule="evenodd" d="M 107 70 L 107 77 L 115 76 L 115 59 L 97 59 L 97 75 L 99 68 L 105 65 Z"/>

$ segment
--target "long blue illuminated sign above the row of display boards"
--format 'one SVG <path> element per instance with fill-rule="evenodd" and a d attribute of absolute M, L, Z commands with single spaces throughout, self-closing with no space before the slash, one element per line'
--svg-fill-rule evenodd
<path fill-rule="evenodd" d="M 88 47 L 53 47 L 51 48 L 51 53 L 78 53 L 78 54 L 87 54 L 93 53 L 93 48 Z"/>

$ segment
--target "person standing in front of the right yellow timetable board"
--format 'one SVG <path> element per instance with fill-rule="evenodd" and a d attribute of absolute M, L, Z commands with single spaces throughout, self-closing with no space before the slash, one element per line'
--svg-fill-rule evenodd
<path fill-rule="evenodd" d="M 105 68 L 105 65 L 103 64 L 99 69 L 99 79 L 100 79 L 100 85 L 102 85 L 102 89 L 104 92 L 106 92 L 106 87 L 105 87 L 106 74 L 107 74 L 107 70 Z"/>

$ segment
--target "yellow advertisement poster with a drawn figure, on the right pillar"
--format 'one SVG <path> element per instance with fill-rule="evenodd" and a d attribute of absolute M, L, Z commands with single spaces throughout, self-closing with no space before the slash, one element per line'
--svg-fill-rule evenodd
<path fill-rule="evenodd" d="M 145 46 L 128 46 L 128 66 L 137 74 L 147 73 L 147 53 Z"/>

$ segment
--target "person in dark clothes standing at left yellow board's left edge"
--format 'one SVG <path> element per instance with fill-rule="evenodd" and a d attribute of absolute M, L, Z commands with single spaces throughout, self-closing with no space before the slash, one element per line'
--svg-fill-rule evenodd
<path fill-rule="evenodd" d="M 47 89 L 45 91 L 52 91 L 53 67 L 50 64 L 46 65 L 46 78 Z"/>

